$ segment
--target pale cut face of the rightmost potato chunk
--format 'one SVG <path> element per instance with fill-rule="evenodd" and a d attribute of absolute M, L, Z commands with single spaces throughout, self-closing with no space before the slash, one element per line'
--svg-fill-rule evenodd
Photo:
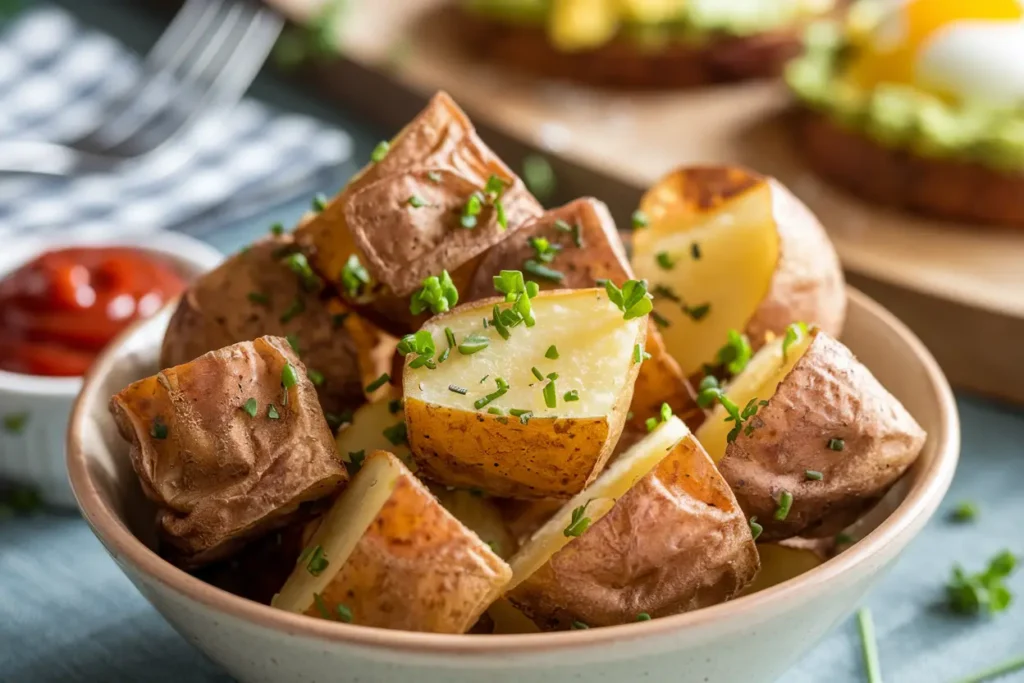
<path fill-rule="evenodd" d="M 726 386 L 725 394 L 742 410 L 752 398 L 770 400 L 785 376 L 797 361 L 807 352 L 813 335 L 805 334 L 790 345 L 783 357 L 783 337 L 778 337 L 758 351 L 746 368 Z M 716 405 L 711 416 L 696 432 L 697 440 L 716 463 L 725 457 L 728 435 L 733 428 L 726 422 L 728 414 L 721 405 Z"/>

